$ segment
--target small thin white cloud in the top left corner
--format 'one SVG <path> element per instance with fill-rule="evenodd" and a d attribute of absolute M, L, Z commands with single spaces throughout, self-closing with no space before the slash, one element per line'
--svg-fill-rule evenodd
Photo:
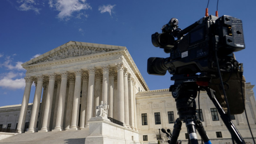
<path fill-rule="evenodd" d="M 17 9 L 19 11 L 35 11 L 36 14 L 40 14 L 40 8 L 35 7 L 38 5 L 34 0 L 18 0 L 17 3 L 21 4 Z"/>

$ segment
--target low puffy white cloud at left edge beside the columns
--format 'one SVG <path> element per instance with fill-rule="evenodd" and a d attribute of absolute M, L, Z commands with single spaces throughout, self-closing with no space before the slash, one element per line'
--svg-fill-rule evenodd
<path fill-rule="evenodd" d="M 4 76 L 0 79 L 0 87 L 2 88 L 8 88 L 8 89 L 23 89 L 26 85 L 24 78 L 20 79 L 14 79 L 17 76 L 22 76 L 23 73 L 13 73 L 9 72 L 7 74 L 4 74 Z"/>

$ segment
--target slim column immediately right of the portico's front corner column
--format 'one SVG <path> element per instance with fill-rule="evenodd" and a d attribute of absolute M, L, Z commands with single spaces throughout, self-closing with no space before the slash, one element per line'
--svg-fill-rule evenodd
<path fill-rule="evenodd" d="M 129 128 L 129 96 L 128 96 L 128 70 L 124 69 L 123 73 L 123 90 L 124 90 L 124 123 Z"/>

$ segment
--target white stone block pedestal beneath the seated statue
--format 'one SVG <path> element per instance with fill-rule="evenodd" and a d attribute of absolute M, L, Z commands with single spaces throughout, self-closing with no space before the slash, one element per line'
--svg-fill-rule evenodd
<path fill-rule="evenodd" d="M 139 132 L 110 122 L 107 117 L 89 120 L 89 136 L 85 144 L 130 144 L 139 142 Z"/>

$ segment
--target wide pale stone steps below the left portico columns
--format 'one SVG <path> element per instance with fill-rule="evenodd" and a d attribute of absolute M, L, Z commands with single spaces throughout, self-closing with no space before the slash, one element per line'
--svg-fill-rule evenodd
<path fill-rule="evenodd" d="M 85 144 L 89 128 L 76 131 L 21 133 L 0 140 L 0 144 Z"/>

